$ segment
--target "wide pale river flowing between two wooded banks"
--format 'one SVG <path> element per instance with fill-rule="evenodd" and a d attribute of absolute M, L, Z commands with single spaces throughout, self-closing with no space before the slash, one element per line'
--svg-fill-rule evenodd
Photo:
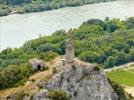
<path fill-rule="evenodd" d="M 50 35 L 59 29 L 77 28 L 91 19 L 134 16 L 134 0 L 67 7 L 58 10 L 0 17 L 0 51 L 7 47 L 20 47 L 39 35 Z"/>

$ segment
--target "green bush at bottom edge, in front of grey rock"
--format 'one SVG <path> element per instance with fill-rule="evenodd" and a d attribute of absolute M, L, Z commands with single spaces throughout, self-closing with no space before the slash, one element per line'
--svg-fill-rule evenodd
<path fill-rule="evenodd" d="M 51 100 L 71 100 L 69 94 L 63 90 L 52 90 L 49 91 L 48 97 Z"/>

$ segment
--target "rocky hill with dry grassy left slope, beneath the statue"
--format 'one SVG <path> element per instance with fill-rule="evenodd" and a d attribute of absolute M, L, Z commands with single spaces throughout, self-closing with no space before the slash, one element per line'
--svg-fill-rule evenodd
<path fill-rule="evenodd" d="M 117 93 L 112 89 L 98 65 L 75 58 L 74 63 L 64 66 L 63 59 L 58 57 L 48 63 L 48 70 L 31 75 L 25 85 L 1 90 L 1 99 L 49 100 L 49 95 L 52 100 L 132 100 L 122 87 L 116 85 L 119 89 Z M 69 95 L 72 95 L 71 98 Z M 53 99 L 60 96 L 61 99 Z"/>

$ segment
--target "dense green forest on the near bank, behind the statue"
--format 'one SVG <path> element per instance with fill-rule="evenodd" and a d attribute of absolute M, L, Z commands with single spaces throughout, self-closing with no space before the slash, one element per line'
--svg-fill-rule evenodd
<path fill-rule="evenodd" d="M 73 29 L 75 55 L 83 61 L 98 63 L 104 68 L 134 61 L 134 18 L 126 20 L 90 19 Z M 7 48 L 0 53 L 0 87 L 20 82 L 31 73 L 30 58 L 49 61 L 65 53 L 65 31 L 27 41 L 20 48 Z M 14 78 L 13 76 L 16 76 Z M 12 81 L 10 81 L 12 80 Z"/>

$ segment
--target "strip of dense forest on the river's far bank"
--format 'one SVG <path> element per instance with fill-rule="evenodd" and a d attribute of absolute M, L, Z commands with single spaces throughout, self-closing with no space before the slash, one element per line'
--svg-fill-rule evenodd
<path fill-rule="evenodd" d="M 0 0 L 0 16 L 10 13 L 29 13 L 58 9 L 66 6 L 115 1 L 115 0 Z"/>

